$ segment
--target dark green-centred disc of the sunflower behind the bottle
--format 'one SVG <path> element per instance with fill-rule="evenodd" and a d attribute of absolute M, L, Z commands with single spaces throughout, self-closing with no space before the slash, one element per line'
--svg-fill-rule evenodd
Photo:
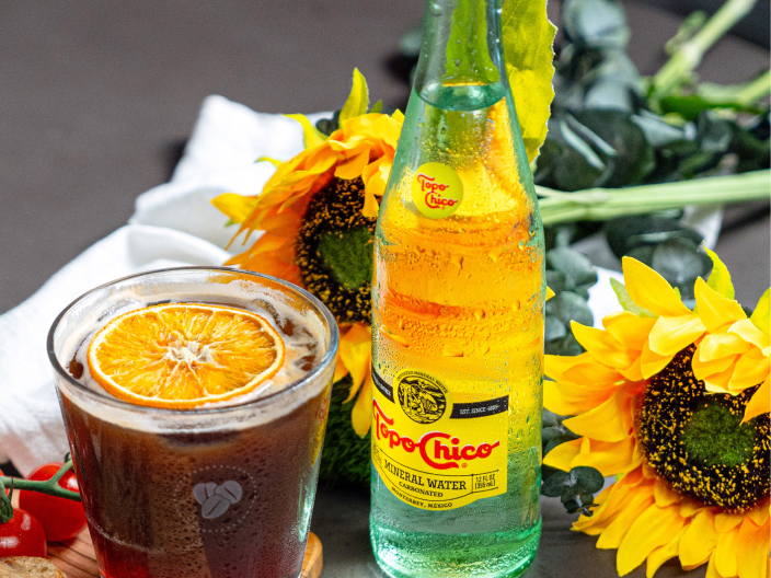
<path fill-rule="evenodd" d="M 376 219 L 361 215 L 364 182 L 333 178 L 308 204 L 295 263 L 340 323 L 370 322 Z"/>

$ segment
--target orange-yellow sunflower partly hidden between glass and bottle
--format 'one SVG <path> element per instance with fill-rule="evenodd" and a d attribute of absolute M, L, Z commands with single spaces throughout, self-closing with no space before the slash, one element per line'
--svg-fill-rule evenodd
<path fill-rule="evenodd" d="M 264 231 L 227 265 L 273 275 L 304 287 L 334 314 L 341 343 L 334 381 L 349 374 L 344 403 L 356 400 L 352 425 L 369 431 L 371 392 L 370 289 L 372 238 L 401 132 L 403 115 L 369 112 L 367 82 L 354 70 L 350 94 L 329 138 L 303 115 L 306 148 L 276 172 L 258 196 L 226 193 L 215 207 L 240 223 L 238 233 Z M 232 243 L 232 241 L 231 241 Z"/>

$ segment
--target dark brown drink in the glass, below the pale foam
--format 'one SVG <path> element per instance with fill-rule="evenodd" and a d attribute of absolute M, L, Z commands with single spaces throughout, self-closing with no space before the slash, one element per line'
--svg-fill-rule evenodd
<path fill-rule="evenodd" d="M 176 435 L 128 429 L 64 398 L 102 574 L 299 576 L 329 393 L 262 426 Z"/>

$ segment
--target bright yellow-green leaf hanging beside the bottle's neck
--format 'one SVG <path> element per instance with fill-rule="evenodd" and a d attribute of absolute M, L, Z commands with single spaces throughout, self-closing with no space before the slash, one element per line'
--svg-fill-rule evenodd
<path fill-rule="evenodd" d="M 545 0 L 505 0 L 500 16 L 506 74 L 528 161 L 538 157 L 546 138 L 546 120 L 554 99 L 556 27 L 546 18 Z"/>

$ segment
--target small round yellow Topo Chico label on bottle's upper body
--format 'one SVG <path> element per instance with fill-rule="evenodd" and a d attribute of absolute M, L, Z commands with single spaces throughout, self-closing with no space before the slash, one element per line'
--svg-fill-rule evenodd
<path fill-rule="evenodd" d="M 426 217 L 444 219 L 460 207 L 463 183 L 458 173 L 446 164 L 422 164 L 412 177 L 412 200 Z"/>

